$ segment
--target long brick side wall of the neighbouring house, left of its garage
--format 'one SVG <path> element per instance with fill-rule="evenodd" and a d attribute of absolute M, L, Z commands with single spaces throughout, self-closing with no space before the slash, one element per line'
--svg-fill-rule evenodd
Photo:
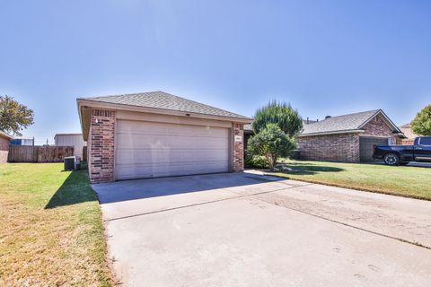
<path fill-rule="evenodd" d="M 298 137 L 296 143 L 305 161 L 359 162 L 359 134 Z"/>

